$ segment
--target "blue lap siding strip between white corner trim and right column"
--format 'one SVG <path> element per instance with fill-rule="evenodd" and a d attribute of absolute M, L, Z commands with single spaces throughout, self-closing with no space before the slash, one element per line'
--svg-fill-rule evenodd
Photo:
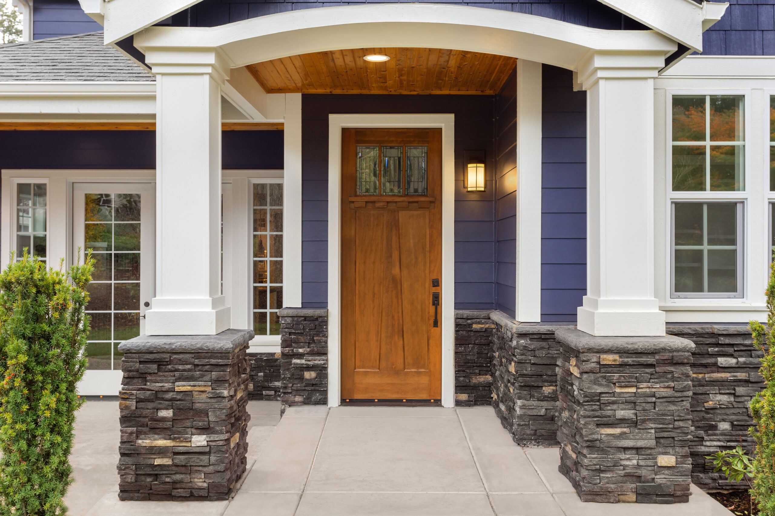
<path fill-rule="evenodd" d="M 576 320 L 587 292 L 587 94 L 543 65 L 541 320 Z"/>

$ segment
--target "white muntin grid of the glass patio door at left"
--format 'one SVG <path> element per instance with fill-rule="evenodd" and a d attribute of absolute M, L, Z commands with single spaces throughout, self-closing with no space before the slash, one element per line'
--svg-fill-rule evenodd
<path fill-rule="evenodd" d="M 89 195 L 105 195 L 105 193 L 84 193 L 84 196 Z M 110 314 L 110 340 L 97 340 L 97 339 L 89 339 L 87 337 L 87 347 L 84 351 L 87 354 L 88 357 L 88 350 L 89 350 L 89 344 L 91 343 L 108 343 L 110 344 L 110 367 L 105 369 L 96 369 L 94 367 L 87 367 L 90 371 L 118 371 L 121 369 L 121 366 L 119 364 L 119 367 L 115 367 L 115 361 L 117 357 L 122 357 L 123 354 L 119 353 L 116 349 L 118 347 L 119 343 L 124 342 L 126 339 L 118 339 L 115 338 L 115 315 L 116 313 L 125 314 L 125 313 L 136 313 L 137 314 L 137 334 L 140 335 L 140 302 L 138 302 L 137 309 L 136 310 L 116 310 L 115 309 L 115 285 L 116 283 L 119 284 L 140 284 L 140 269 L 138 269 L 138 279 L 118 279 L 115 278 L 115 269 L 116 269 L 116 260 L 115 255 L 138 255 L 138 267 L 140 267 L 141 264 L 141 257 L 142 257 L 142 251 L 143 251 L 143 240 L 142 240 L 142 234 L 140 234 L 140 249 L 134 250 L 134 251 L 116 251 L 115 250 L 115 224 L 142 224 L 141 220 L 115 220 L 115 197 L 116 195 L 133 195 L 133 194 L 118 194 L 118 193 L 108 193 L 111 200 L 111 220 L 84 220 L 84 247 L 86 245 L 86 237 L 88 235 L 88 231 L 86 231 L 86 227 L 88 227 L 89 224 L 111 224 L 111 242 L 110 242 L 110 251 L 94 251 L 92 249 L 92 255 L 109 255 L 111 257 L 110 261 L 110 279 L 98 279 L 98 280 L 92 280 L 89 284 L 105 284 L 108 283 L 111 285 L 110 288 L 110 302 L 111 302 L 111 309 L 110 310 L 90 310 L 86 309 L 86 313 L 88 314 L 95 314 L 95 313 L 109 313 Z M 140 194 L 136 194 L 140 198 L 140 203 L 142 205 L 143 198 L 140 196 Z M 86 203 L 84 203 L 84 206 L 86 206 Z M 140 214 L 141 212 L 139 212 Z M 85 215 L 85 214 L 84 214 Z M 142 215 L 140 215 L 140 218 L 142 218 Z M 85 217 L 84 217 L 85 219 Z M 142 228 L 142 225 L 140 225 L 140 228 Z M 86 249 L 88 251 L 88 249 Z"/>

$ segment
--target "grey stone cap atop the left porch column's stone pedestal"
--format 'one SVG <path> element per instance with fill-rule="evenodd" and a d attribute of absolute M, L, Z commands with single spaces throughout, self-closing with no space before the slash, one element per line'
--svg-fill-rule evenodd
<path fill-rule="evenodd" d="M 253 330 L 229 329 L 217 335 L 140 335 L 119 344 L 122 353 L 231 353 L 253 340 Z"/>

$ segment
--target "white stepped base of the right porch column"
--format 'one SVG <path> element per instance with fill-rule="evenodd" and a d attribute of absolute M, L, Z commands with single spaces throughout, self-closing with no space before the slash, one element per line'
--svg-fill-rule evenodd
<path fill-rule="evenodd" d="M 584 296 L 577 328 L 597 337 L 661 337 L 665 334 L 665 313 L 656 299 Z"/>

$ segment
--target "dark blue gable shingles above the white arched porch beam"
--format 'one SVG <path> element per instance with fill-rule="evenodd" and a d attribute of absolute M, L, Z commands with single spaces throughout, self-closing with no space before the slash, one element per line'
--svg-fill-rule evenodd
<path fill-rule="evenodd" d="M 277 12 L 298 11 L 299 9 L 312 9 L 315 7 L 332 7 L 335 5 L 355 5 L 365 3 L 394 3 L 395 0 L 385 2 L 305 2 L 304 0 L 275 0 L 257 2 L 255 0 L 204 0 L 197 5 L 174 15 L 174 26 L 198 26 L 214 27 L 225 23 L 239 22 L 243 19 L 257 18 L 276 14 Z M 490 0 L 482 2 L 464 2 L 463 0 L 444 0 L 443 3 L 453 5 L 470 5 L 485 9 L 501 9 L 504 11 L 524 12 L 545 18 L 557 19 L 576 25 L 594 27 L 596 29 L 648 29 L 641 23 L 628 18 L 622 13 L 601 4 L 597 0 L 545 0 L 537 2 L 530 0 L 522 2 L 512 0 Z"/>

